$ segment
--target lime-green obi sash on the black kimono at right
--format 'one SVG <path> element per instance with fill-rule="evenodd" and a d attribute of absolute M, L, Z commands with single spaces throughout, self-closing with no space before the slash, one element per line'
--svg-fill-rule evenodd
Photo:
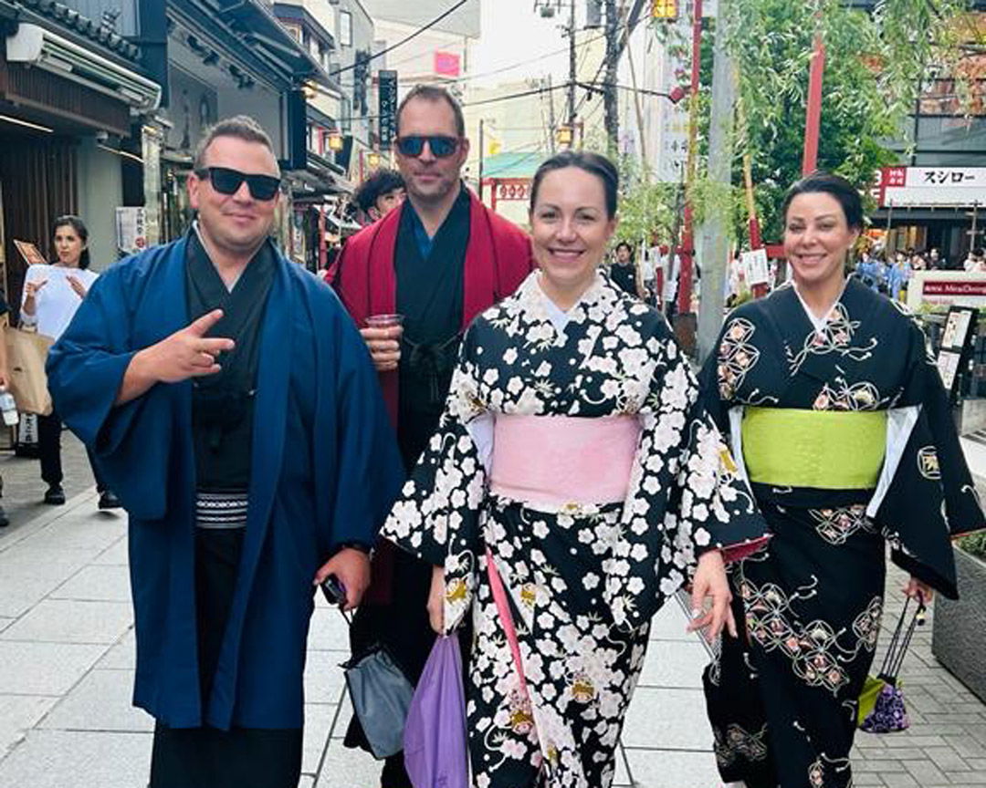
<path fill-rule="evenodd" d="M 741 434 L 751 482 L 870 490 L 883 467 L 886 411 L 746 407 Z"/>

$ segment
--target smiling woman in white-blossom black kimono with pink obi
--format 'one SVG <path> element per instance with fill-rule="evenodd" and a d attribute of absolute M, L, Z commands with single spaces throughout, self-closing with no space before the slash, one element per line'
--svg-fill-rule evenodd
<path fill-rule="evenodd" d="M 664 318 L 598 271 L 616 195 L 599 156 L 541 165 L 540 270 L 467 330 L 383 530 L 435 565 L 436 630 L 471 615 L 477 788 L 606 788 L 651 617 L 693 578 L 691 628 L 734 628 L 724 563 L 765 542 Z"/>

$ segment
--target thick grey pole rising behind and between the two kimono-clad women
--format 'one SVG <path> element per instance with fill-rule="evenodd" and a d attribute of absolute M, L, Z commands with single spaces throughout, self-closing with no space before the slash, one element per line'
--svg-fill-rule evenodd
<path fill-rule="evenodd" d="M 712 113 L 709 120 L 709 180 L 726 190 L 733 183 L 733 128 L 737 102 L 736 69 L 726 44 L 728 0 L 720 0 L 712 66 Z M 730 245 L 728 211 L 715 211 L 698 230 L 702 251 L 702 298 L 698 308 L 698 361 L 715 348 L 723 322 L 723 301 Z"/>

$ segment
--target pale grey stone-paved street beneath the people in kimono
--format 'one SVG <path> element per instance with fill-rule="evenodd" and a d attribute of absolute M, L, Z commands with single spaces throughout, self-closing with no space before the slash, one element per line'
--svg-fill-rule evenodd
<path fill-rule="evenodd" d="M 986 445 L 966 445 L 986 477 Z M 46 507 L 36 461 L 4 456 L 0 529 L 0 788 L 144 788 L 152 721 L 131 707 L 134 640 L 126 519 L 96 508 L 85 453 L 66 436 L 67 505 Z M 891 571 L 882 641 L 899 613 Z M 619 753 L 616 783 L 717 788 L 700 671 L 706 651 L 671 603 L 658 616 Z M 346 626 L 319 598 L 309 643 L 301 788 L 375 788 L 379 764 L 345 750 L 350 716 L 339 664 Z M 881 654 L 877 664 L 880 664 Z M 912 727 L 860 733 L 856 785 L 986 786 L 986 705 L 931 654 L 919 629 L 902 672 Z"/>

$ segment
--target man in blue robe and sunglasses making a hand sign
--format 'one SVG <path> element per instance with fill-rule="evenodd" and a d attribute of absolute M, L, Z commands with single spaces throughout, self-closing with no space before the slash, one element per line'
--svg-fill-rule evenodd
<path fill-rule="evenodd" d="M 400 460 L 352 320 L 268 237 L 255 121 L 213 127 L 188 193 L 194 227 L 100 278 L 49 385 L 130 514 L 152 788 L 295 788 L 313 586 L 359 603 Z"/>

